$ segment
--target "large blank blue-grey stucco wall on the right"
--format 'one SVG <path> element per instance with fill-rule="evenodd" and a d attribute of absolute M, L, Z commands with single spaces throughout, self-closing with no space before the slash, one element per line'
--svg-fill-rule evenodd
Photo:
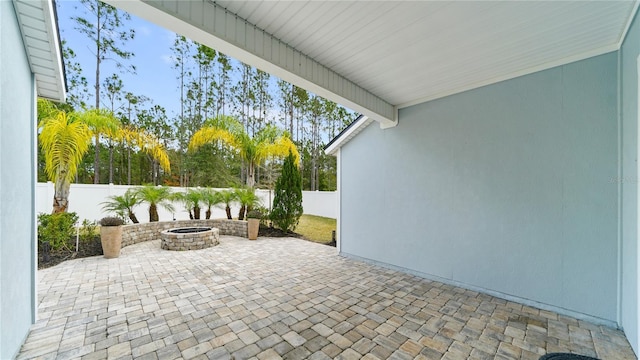
<path fill-rule="evenodd" d="M 368 127 L 340 150 L 341 253 L 616 324 L 617 78 L 614 52 Z"/>

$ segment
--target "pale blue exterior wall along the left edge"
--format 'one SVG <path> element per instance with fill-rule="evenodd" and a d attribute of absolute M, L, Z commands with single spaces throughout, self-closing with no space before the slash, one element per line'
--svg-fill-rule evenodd
<path fill-rule="evenodd" d="M 35 317 L 35 88 L 13 2 L 0 1 L 0 24 L 0 358 L 7 359 Z"/>

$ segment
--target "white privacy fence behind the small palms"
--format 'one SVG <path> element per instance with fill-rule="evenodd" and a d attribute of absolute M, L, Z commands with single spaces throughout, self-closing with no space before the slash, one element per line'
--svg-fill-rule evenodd
<path fill-rule="evenodd" d="M 136 187 L 133 185 L 95 185 L 95 184 L 71 184 L 69 192 L 69 209 L 78 214 L 80 220 L 99 220 L 109 214 L 102 211 L 101 203 L 106 201 L 109 196 L 122 195 L 127 189 Z M 185 191 L 182 187 L 172 187 L 172 191 Z M 224 190 L 224 189 L 215 189 Z M 50 213 L 53 208 L 53 183 L 37 183 L 36 184 L 36 212 Z M 256 195 L 261 199 L 262 205 L 269 207 L 268 204 L 273 201 L 273 191 L 256 190 Z M 170 212 L 163 208 L 158 208 L 160 221 L 167 220 L 187 220 L 189 213 L 184 206 L 178 202 L 174 202 L 175 211 Z M 325 216 L 336 218 L 338 213 L 338 195 L 335 191 L 303 191 L 302 206 L 305 214 Z M 240 206 L 235 204 L 231 207 L 233 217 L 238 216 Z M 201 210 L 201 218 L 204 218 L 206 209 Z M 147 204 L 138 205 L 134 212 L 140 222 L 149 221 L 149 211 Z M 226 218 L 224 205 L 211 208 L 211 218 Z M 111 214 L 113 215 L 113 214 Z"/>

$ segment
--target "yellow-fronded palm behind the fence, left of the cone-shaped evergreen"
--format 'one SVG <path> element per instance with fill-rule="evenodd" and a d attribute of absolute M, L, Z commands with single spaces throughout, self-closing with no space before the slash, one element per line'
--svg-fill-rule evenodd
<path fill-rule="evenodd" d="M 274 125 L 267 125 L 253 137 L 249 136 L 242 124 L 231 116 L 221 115 L 207 121 L 206 125 L 196 131 L 189 142 L 189 149 L 197 150 L 204 144 L 222 141 L 234 148 L 247 164 L 247 186 L 255 185 L 254 172 L 256 166 L 270 156 L 286 157 L 291 151 L 299 161 L 300 154 L 288 133 Z"/>

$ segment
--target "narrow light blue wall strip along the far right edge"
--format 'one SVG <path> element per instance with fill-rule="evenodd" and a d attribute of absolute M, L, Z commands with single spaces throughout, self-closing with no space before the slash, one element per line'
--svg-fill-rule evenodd
<path fill-rule="evenodd" d="M 621 325 L 640 354 L 638 319 L 638 57 L 640 24 L 633 21 L 620 50 L 621 118 Z"/>

